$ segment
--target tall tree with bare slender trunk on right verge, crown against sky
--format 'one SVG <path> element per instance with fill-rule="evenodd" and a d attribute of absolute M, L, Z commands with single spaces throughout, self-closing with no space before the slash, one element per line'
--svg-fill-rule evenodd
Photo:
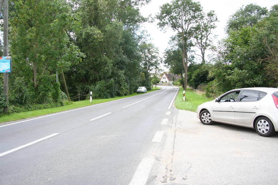
<path fill-rule="evenodd" d="M 193 46 L 191 40 L 199 32 L 204 13 L 199 2 L 192 0 L 173 0 L 160 7 L 156 15 L 160 28 L 170 27 L 182 39 L 182 64 L 184 68 L 184 89 L 187 88 L 188 50 Z"/>

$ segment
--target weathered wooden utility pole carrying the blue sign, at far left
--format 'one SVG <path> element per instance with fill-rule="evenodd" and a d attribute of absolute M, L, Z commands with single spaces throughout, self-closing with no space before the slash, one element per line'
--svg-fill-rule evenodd
<path fill-rule="evenodd" d="M 8 55 L 8 0 L 4 0 L 4 7 L 3 7 L 3 18 L 4 18 L 4 29 L 3 29 L 3 55 L 4 56 L 9 56 Z M 4 94 L 6 95 L 6 102 L 9 103 L 9 73 L 3 73 L 3 91 Z M 8 107 L 4 108 L 4 111 L 8 111 Z"/>

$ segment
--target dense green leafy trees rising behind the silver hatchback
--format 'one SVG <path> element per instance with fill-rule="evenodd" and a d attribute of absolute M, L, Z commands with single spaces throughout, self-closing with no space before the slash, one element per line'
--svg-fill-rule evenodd
<path fill-rule="evenodd" d="M 277 78 L 270 77 L 277 74 L 275 7 L 266 16 L 265 8 L 250 4 L 228 21 L 228 36 L 221 41 L 216 62 L 209 70 L 209 78 L 214 80 L 207 86 L 207 96 L 236 88 L 277 86 Z M 240 26 L 232 26 L 235 24 Z"/>

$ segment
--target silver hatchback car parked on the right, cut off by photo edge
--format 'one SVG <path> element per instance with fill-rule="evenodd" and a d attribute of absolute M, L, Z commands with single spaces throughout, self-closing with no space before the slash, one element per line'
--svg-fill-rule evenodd
<path fill-rule="evenodd" d="M 197 108 L 205 125 L 214 122 L 254 128 L 261 136 L 278 131 L 278 89 L 243 88 L 226 92 Z"/>

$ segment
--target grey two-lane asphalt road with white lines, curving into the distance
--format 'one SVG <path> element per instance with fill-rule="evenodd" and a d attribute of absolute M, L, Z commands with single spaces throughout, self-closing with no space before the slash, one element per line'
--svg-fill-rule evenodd
<path fill-rule="evenodd" d="M 0 124 L 0 184 L 145 184 L 176 92 Z"/>

